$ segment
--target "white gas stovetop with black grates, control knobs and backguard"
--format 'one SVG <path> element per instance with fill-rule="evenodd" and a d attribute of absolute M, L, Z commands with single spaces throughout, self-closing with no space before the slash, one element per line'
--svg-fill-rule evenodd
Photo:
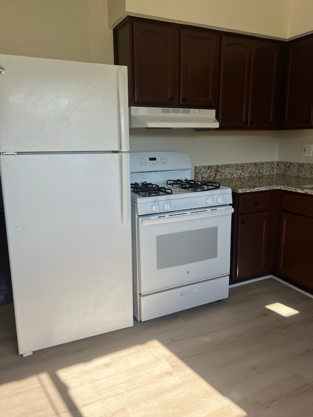
<path fill-rule="evenodd" d="M 138 215 L 215 207 L 232 203 L 231 189 L 191 179 L 188 154 L 131 154 L 131 199 Z"/>

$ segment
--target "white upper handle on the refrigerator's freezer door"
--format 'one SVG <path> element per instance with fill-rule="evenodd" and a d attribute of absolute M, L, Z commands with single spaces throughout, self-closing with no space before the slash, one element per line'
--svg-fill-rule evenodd
<path fill-rule="evenodd" d="M 119 120 L 121 131 L 121 151 L 129 151 L 129 129 L 128 129 L 128 94 L 125 85 L 123 71 L 117 71 L 117 88 L 119 100 Z"/>

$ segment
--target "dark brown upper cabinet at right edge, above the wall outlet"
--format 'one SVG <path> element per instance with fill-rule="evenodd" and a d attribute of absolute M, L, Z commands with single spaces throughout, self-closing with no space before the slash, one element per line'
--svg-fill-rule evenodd
<path fill-rule="evenodd" d="M 282 127 L 313 127 L 313 37 L 288 44 Z"/>

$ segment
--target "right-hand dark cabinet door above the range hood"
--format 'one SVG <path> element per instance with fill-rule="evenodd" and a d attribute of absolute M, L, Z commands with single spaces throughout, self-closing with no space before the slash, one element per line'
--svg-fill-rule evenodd
<path fill-rule="evenodd" d="M 220 36 L 180 30 L 179 105 L 216 108 L 219 88 Z"/>

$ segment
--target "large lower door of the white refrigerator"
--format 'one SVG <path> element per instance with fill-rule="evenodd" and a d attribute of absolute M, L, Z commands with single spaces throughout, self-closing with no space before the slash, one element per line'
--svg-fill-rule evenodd
<path fill-rule="evenodd" d="M 0 156 L 21 354 L 133 325 L 128 156 Z"/>

